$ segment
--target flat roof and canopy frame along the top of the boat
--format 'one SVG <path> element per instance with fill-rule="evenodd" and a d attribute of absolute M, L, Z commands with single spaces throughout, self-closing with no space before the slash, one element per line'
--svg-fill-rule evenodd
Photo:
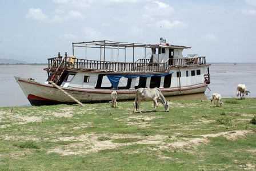
<path fill-rule="evenodd" d="M 165 44 L 143 44 L 143 43 L 128 43 L 128 42 L 114 42 L 110 40 L 99 40 L 99 41 L 91 41 L 91 42 L 76 42 L 72 43 L 73 47 L 91 47 L 91 48 L 126 48 L 126 47 L 145 47 L 145 48 L 159 48 L 159 47 L 167 47 L 167 48 L 182 48 L 187 49 L 191 47 L 186 46 L 178 46 L 169 43 Z"/>

